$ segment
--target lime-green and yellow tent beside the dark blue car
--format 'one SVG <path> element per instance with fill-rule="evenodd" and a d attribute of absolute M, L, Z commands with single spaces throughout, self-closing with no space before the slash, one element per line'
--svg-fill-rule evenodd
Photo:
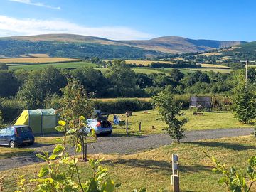
<path fill-rule="evenodd" d="M 55 132 L 58 114 L 54 109 L 23 110 L 14 125 L 28 125 L 35 134 Z"/>

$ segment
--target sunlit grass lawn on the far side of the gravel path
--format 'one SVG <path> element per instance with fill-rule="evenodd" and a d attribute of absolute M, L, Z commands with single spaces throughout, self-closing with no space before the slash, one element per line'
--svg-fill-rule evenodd
<path fill-rule="evenodd" d="M 143 111 L 134 112 L 132 117 L 121 117 L 122 114 L 118 114 L 122 120 L 128 119 L 129 133 L 139 134 L 139 122 L 142 122 L 141 134 L 158 134 L 163 133 L 162 130 L 166 127 L 165 122 L 156 120 L 159 118 L 157 110 L 148 110 L 148 114 Z M 188 130 L 203 130 L 203 129 L 221 129 L 221 128 L 244 128 L 252 127 L 251 125 L 242 124 L 233 117 L 230 112 L 203 112 L 204 116 L 193 115 L 192 110 L 186 110 L 186 117 L 189 122 L 185 125 Z M 110 115 L 110 120 L 113 116 Z M 155 129 L 152 129 L 154 126 Z M 114 125 L 114 133 L 124 134 L 125 129 Z"/>

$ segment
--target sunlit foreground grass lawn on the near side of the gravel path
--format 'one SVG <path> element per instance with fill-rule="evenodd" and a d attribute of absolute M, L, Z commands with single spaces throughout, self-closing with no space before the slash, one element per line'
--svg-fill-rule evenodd
<path fill-rule="evenodd" d="M 117 191 L 132 191 L 133 188 L 146 187 L 148 191 L 157 191 L 159 188 L 171 191 L 171 154 L 179 155 L 180 186 L 181 191 L 226 191 L 218 185 L 220 175 L 213 174 L 213 164 L 204 154 L 207 151 L 210 156 L 236 168 L 246 169 L 247 159 L 255 155 L 255 138 L 230 137 L 223 139 L 210 139 L 198 142 L 187 142 L 162 146 L 151 151 L 124 156 L 100 154 L 103 166 L 110 169 L 110 176 L 115 183 L 122 183 Z M 90 158 L 96 158 L 91 155 Z M 6 176 L 4 188 L 9 191 L 15 189 L 14 183 L 19 175 L 31 178 L 35 171 L 38 172 L 44 164 L 34 164 L 18 169 L 1 171 L 1 176 Z M 91 169 L 87 163 L 80 163 L 82 180 L 88 178 Z M 256 191 L 256 186 L 252 187 Z"/>

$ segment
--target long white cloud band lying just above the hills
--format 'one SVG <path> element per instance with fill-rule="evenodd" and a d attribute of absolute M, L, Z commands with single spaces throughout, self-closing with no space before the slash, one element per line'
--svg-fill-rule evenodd
<path fill-rule="evenodd" d="M 148 33 L 123 26 L 87 27 L 60 19 L 18 19 L 0 15 L 0 36 L 29 36 L 47 33 L 72 33 L 115 40 L 146 39 L 153 37 Z"/>

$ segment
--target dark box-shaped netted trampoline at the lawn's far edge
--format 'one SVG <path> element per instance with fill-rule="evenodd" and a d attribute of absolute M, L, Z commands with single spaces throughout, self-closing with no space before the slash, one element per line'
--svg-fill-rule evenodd
<path fill-rule="evenodd" d="M 203 107 L 210 109 L 212 107 L 211 97 L 209 96 L 191 96 L 190 107 Z"/>

